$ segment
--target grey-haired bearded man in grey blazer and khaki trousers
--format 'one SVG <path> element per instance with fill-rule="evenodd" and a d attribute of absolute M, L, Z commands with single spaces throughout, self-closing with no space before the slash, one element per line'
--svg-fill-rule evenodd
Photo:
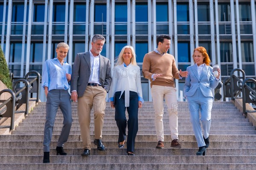
<path fill-rule="evenodd" d="M 110 89 L 112 77 L 110 61 L 100 55 L 105 38 L 95 34 L 91 50 L 76 54 L 71 77 L 71 99 L 78 101 L 78 119 L 81 129 L 83 153 L 89 156 L 90 111 L 94 109 L 94 141 L 98 150 L 105 150 L 102 144 L 102 127 L 106 108 L 106 96 Z"/>

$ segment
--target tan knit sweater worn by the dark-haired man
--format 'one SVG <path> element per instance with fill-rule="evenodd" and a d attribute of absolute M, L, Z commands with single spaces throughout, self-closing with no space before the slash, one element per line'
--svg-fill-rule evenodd
<path fill-rule="evenodd" d="M 142 73 L 146 79 L 149 79 L 152 85 L 162 85 L 175 87 L 174 79 L 180 79 L 179 70 L 175 64 L 175 58 L 171 54 L 157 54 L 151 51 L 145 54 L 142 65 Z M 152 81 L 152 74 L 163 74 Z"/>

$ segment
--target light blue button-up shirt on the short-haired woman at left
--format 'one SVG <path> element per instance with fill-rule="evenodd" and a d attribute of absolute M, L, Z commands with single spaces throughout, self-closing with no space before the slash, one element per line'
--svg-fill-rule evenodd
<path fill-rule="evenodd" d="M 71 74 L 71 66 L 64 61 L 63 65 L 57 58 L 47 59 L 42 70 L 42 87 L 68 90 L 70 83 L 67 82 L 67 74 Z"/>

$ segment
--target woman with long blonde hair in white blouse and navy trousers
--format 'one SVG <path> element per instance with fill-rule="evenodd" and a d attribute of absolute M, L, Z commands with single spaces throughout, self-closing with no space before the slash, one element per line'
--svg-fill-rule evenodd
<path fill-rule="evenodd" d="M 127 154 L 134 156 L 134 143 L 138 131 L 138 108 L 144 102 L 140 81 L 140 67 L 136 62 L 136 55 L 132 46 L 122 48 L 113 68 L 109 101 L 111 108 L 115 108 L 115 120 L 119 129 L 118 147 L 125 145 L 126 127 L 128 125 Z M 115 98 L 115 99 L 114 99 Z M 125 117 L 127 108 L 128 121 Z"/>

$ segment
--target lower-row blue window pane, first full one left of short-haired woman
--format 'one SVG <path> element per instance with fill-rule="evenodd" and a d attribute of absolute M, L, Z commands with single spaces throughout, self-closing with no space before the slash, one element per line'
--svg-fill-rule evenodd
<path fill-rule="evenodd" d="M 31 43 L 29 62 L 42 62 L 43 43 Z"/>

